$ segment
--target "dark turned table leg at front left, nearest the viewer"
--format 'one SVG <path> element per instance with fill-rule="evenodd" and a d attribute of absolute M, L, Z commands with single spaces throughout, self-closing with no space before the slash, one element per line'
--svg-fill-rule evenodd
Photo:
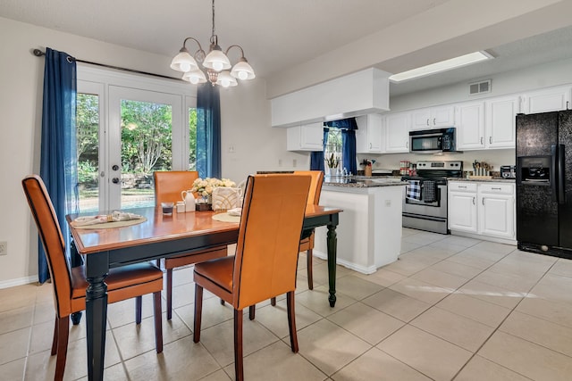
<path fill-rule="evenodd" d="M 105 324 L 107 319 L 107 253 L 86 255 L 86 330 L 88 341 L 88 380 L 104 379 Z"/>

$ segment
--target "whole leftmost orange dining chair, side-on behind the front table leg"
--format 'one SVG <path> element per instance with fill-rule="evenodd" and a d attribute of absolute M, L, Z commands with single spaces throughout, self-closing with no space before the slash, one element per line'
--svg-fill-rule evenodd
<path fill-rule="evenodd" d="M 55 380 L 63 378 L 68 348 L 70 315 L 86 308 L 88 281 L 83 266 L 70 268 L 65 255 L 62 230 L 54 206 L 41 178 L 30 175 L 22 181 L 29 209 L 34 216 L 38 234 L 46 252 L 47 266 L 54 285 L 55 329 L 52 355 L 57 353 Z M 163 272 L 150 263 L 139 263 L 111 269 L 105 278 L 107 302 L 120 302 L 137 298 L 137 324 L 141 322 L 141 296 L 153 293 L 155 308 L 156 352 L 163 352 L 163 326 L 161 322 L 161 290 Z"/>

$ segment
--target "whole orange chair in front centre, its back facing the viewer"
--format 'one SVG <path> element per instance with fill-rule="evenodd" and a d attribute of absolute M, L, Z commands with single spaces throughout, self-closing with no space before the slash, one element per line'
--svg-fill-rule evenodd
<path fill-rule="evenodd" d="M 309 187 L 307 176 L 249 176 L 235 255 L 195 265 L 193 340 L 200 340 L 206 288 L 234 308 L 234 369 L 238 381 L 244 379 L 242 310 L 246 307 L 287 294 L 290 347 L 298 352 L 294 291 Z"/>

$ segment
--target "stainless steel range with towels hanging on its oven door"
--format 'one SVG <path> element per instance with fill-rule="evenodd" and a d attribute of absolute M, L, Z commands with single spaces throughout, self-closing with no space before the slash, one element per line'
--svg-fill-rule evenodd
<path fill-rule="evenodd" d="M 463 162 L 417 162 L 416 176 L 404 176 L 403 227 L 449 234 L 447 178 L 463 176 Z"/>

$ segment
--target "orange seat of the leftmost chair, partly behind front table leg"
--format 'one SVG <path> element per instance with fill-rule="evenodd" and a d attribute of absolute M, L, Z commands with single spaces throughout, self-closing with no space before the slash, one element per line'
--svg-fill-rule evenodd
<path fill-rule="evenodd" d="M 109 275 L 105 277 L 105 284 L 107 284 L 107 292 L 111 292 L 159 279 L 163 279 L 163 271 L 149 262 L 144 262 L 110 269 Z M 88 285 L 85 267 L 71 268 L 71 298 L 85 298 Z"/>

